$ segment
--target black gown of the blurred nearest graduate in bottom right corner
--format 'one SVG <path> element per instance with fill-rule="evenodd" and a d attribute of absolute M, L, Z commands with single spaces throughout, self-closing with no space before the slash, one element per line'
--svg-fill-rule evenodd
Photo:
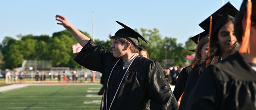
<path fill-rule="evenodd" d="M 200 75 L 188 103 L 187 110 L 256 110 L 256 72 L 230 55 Z"/>

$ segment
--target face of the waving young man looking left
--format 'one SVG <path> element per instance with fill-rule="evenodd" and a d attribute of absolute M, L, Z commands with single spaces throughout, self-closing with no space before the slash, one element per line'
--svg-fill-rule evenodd
<path fill-rule="evenodd" d="M 114 39 L 110 46 L 114 57 L 122 57 L 125 55 L 125 45 L 122 44 L 118 39 Z"/>

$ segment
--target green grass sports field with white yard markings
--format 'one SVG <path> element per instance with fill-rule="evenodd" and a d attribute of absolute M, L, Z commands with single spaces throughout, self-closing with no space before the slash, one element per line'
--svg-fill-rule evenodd
<path fill-rule="evenodd" d="M 100 87 L 99 84 L 50 85 L 4 91 L 0 93 L 0 110 L 99 110 Z"/>

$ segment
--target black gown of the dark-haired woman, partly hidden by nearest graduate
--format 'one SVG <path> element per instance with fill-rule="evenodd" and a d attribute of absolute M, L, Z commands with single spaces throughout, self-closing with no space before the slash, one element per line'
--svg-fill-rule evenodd
<path fill-rule="evenodd" d="M 179 110 L 187 110 L 186 109 L 187 100 L 189 99 L 191 91 L 193 91 L 193 89 L 196 85 L 196 82 L 199 79 L 200 74 L 203 72 L 203 70 L 205 68 L 206 68 L 206 63 L 201 63 L 192 68 L 192 70 L 189 74 L 189 78 L 187 80 L 186 87 L 184 88 L 184 93 L 183 93 L 182 100 L 179 105 Z"/>

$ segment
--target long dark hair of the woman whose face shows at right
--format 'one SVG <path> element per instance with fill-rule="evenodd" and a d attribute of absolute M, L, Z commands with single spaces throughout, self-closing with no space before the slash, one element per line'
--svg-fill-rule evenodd
<path fill-rule="evenodd" d="M 210 65 L 218 62 L 221 60 L 220 56 L 220 46 L 218 45 L 218 32 L 222 26 L 225 24 L 232 22 L 234 23 L 234 17 L 230 15 L 225 15 L 223 17 L 220 17 L 217 21 L 215 26 L 213 27 L 213 32 L 211 33 L 211 38 L 210 38 L 210 56 L 206 58 L 206 60 L 211 59 Z M 235 53 L 237 50 L 239 50 L 239 43 L 234 43 L 232 49 L 228 52 L 228 55 L 232 55 Z"/>

